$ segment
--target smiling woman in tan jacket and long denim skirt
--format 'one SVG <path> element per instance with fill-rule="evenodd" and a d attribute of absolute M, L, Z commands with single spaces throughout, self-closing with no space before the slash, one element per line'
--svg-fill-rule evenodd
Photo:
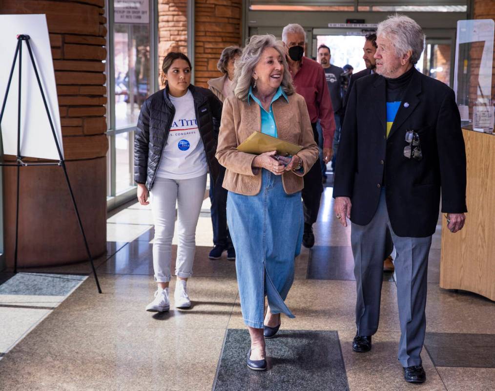
<path fill-rule="evenodd" d="M 237 146 L 253 131 L 302 149 L 287 158 L 276 156 L 277 151 L 239 151 Z M 302 176 L 318 158 L 306 103 L 294 91 L 283 44 L 273 35 L 251 37 L 236 63 L 234 94 L 224 101 L 216 157 L 226 168 L 227 221 L 251 336 L 247 366 L 265 370 L 264 338 L 278 332 L 281 313 L 294 317 L 284 300 L 302 241 Z"/>

